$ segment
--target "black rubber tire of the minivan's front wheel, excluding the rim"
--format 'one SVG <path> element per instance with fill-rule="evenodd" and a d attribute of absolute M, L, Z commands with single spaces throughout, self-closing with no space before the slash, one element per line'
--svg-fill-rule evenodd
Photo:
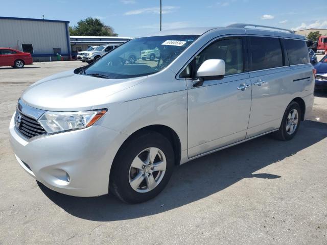
<path fill-rule="evenodd" d="M 130 169 L 135 157 L 140 156 L 139 154 L 148 148 L 157 148 L 164 153 L 166 157 L 166 170 L 161 181 L 154 189 L 141 193 L 131 187 Z M 148 201 L 165 188 L 173 173 L 173 168 L 174 151 L 170 141 L 159 133 L 144 131 L 142 134 L 135 135 L 135 137 L 132 136 L 131 139 L 123 144 L 121 150 L 116 155 L 110 173 L 109 191 L 127 203 L 142 203 Z M 155 173 L 156 172 L 153 173 L 153 177 L 155 177 Z M 145 175 L 146 173 L 144 172 L 142 176 Z M 145 177 L 144 180 L 146 180 Z"/>

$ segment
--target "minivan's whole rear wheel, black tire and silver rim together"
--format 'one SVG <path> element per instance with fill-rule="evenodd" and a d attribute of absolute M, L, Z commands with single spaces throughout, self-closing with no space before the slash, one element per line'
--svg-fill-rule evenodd
<path fill-rule="evenodd" d="M 301 122 L 301 108 L 296 102 L 291 102 L 285 110 L 281 127 L 274 132 L 280 140 L 290 140 L 297 133 Z"/>

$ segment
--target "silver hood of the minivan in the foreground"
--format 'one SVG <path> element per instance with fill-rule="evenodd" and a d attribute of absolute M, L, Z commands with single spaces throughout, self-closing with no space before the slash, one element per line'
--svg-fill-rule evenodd
<path fill-rule="evenodd" d="M 74 74 L 74 70 L 42 79 L 21 95 L 24 103 L 43 110 L 79 111 L 106 105 L 108 97 L 146 80 L 103 79 Z"/>

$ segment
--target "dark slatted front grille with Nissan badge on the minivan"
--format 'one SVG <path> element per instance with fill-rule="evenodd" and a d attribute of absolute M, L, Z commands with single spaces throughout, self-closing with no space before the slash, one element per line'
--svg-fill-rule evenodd
<path fill-rule="evenodd" d="M 18 118 L 20 116 L 20 119 Z M 32 137 L 46 134 L 45 130 L 39 124 L 39 122 L 29 116 L 21 114 L 17 111 L 15 126 L 26 138 L 30 139 Z"/>

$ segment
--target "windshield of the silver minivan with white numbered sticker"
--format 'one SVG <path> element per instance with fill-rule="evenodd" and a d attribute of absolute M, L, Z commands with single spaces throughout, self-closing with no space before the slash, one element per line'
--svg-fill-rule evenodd
<path fill-rule="evenodd" d="M 135 38 L 103 56 L 86 68 L 84 74 L 102 75 L 110 79 L 154 74 L 173 62 L 197 37 L 174 35 Z"/>

